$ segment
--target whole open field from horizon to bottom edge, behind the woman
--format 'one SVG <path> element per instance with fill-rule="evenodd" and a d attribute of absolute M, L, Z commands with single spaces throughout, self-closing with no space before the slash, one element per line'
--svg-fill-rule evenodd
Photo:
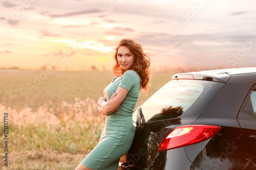
<path fill-rule="evenodd" d="M 96 101 L 111 82 L 111 71 L 42 72 L 0 70 L 0 138 L 7 111 L 9 169 L 74 169 L 98 143 L 104 127 Z M 140 94 L 137 106 L 175 73 L 152 74 L 152 86 Z M 0 148 L 3 158 L 3 142 Z M 0 167 L 8 169 L 2 160 Z"/>

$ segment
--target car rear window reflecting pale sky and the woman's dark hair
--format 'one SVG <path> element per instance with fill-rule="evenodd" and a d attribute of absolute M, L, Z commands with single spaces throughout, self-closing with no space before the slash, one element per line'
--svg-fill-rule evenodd
<path fill-rule="evenodd" d="M 145 120 L 200 114 L 224 84 L 203 80 L 170 81 L 141 105 Z"/>

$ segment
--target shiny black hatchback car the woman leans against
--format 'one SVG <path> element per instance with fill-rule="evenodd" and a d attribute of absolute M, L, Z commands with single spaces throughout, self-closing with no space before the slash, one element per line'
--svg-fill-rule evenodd
<path fill-rule="evenodd" d="M 176 74 L 133 119 L 119 169 L 256 169 L 256 67 Z"/>

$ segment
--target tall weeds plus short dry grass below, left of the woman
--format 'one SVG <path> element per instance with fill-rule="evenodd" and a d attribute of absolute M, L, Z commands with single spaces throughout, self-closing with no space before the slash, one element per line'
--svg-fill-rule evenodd
<path fill-rule="evenodd" d="M 90 98 L 75 98 L 74 104 L 61 102 L 50 111 L 44 107 L 36 112 L 17 111 L 0 105 L 1 113 L 6 110 L 10 169 L 74 169 L 97 144 L 105 118 Z"/>

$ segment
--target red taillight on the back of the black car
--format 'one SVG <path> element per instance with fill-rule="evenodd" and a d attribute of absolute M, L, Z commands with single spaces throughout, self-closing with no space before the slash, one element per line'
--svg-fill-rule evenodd
<path fill-rule="evenodd" d="M 186 125 L 174 128 L 162 140 L 158 152 L 199 143 L 214 136 L 221 127 L 214 125 Z"/>

